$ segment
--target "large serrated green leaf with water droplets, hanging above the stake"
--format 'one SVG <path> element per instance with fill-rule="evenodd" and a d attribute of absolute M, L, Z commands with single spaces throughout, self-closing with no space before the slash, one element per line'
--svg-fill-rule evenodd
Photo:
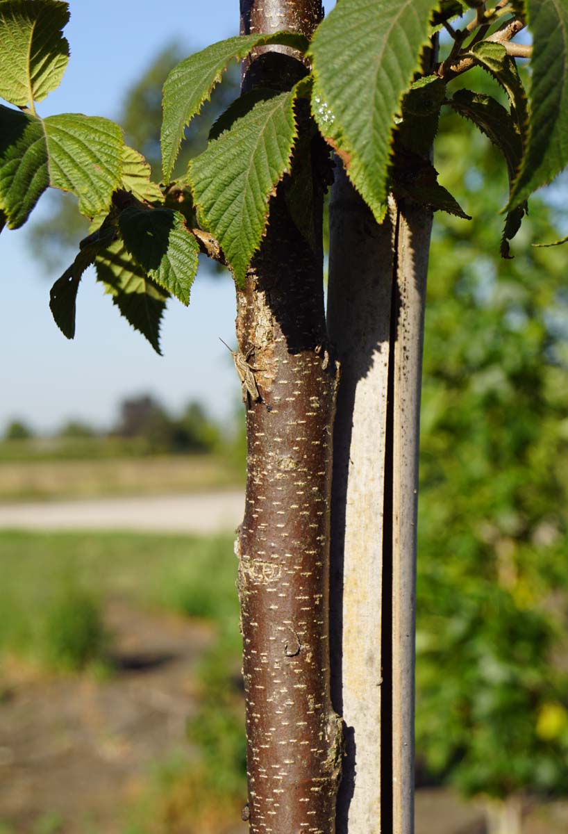
<path fill-rule="evenodd" d="M 341 0 L 316 30 L 312 112 L 380 222 L 401 98 L 420 69 L 432 0 Z"/>

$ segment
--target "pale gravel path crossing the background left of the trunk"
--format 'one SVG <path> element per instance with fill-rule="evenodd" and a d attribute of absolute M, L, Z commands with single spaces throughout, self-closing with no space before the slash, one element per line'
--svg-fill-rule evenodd
<path fill-rule="evenodd" d="M 0 528 L 12 530 L 161 530 L 218 533 L 242 521 L 242 490 L 202 495 L 26 502 L 0 505 Z"/>

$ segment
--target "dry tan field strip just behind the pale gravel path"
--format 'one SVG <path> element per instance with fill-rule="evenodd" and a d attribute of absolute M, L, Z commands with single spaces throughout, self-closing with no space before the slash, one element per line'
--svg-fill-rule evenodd
<path fill-rule="evenodd" d="M 0 459 L 0 500 L 159 495 L 215 490 L 240 485 L 243 480 L 242 469 L 230 456 Z"/>

